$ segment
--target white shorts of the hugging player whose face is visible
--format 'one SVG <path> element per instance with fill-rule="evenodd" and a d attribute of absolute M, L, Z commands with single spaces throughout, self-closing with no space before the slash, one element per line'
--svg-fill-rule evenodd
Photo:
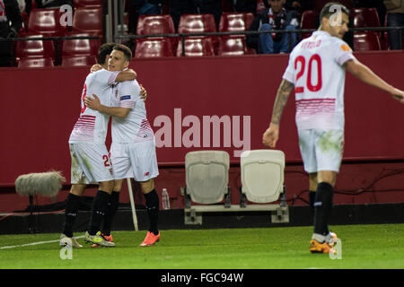
<path fill-rule="evenodd" d="M 112 143 L 110 161 L 114 167 L 114 179 L 134 178 L 147 181 L 159 175 L 155 142 Z"/>

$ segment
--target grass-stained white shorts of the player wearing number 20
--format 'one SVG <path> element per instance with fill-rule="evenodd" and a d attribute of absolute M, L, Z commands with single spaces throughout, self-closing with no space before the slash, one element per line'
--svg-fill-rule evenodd
<path fill-rule="evenodd" d="M 344 130 L 304 129 L 298 130 L 298 134 L 306 172 L 339 171 L 344 151 Z"/>

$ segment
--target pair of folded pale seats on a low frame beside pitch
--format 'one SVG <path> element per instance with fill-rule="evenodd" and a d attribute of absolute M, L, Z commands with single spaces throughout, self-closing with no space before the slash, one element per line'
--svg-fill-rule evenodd
<path fill-rule="evenodd" d="M 232 204 L 229 154 L 224 151 L 186 154 L 185 224 L 202 224 L 201 213 L 224 211 L 271 211 L 272 222 L 289 221 L 284 184 L 285 153 L 277 150 L 244 151 L 240 165 L 240 204 Z M 278 200 L 279 204 L 275 204 Z"/>

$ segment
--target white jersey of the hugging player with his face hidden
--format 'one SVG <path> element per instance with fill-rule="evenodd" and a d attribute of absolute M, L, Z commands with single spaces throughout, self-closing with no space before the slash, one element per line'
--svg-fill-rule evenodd
<path fill-rule="evenodd" d="M 83 86 L 80 117 L 75 122 L 69 143 L 105 143 L 110 116 L 87 108 L 84 98 L 96 94 L 102 105 L 110 107 L 111 85 L 115 83 L 118 74 L 119 72 L 102 69 L 87 75 Z"/>

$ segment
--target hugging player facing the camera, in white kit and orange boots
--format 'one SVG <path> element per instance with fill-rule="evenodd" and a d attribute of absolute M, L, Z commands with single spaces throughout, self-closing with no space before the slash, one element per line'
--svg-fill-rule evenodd
<path fill-rule="evenodd" d="M 127 68 L 130 57 L 130 49 L 117 45 L 111 53 L 109 69 Z M 97 95 L 86 97 L 85 103 L 91 109 L 112 116 L 110 159 L 114 167 L 113 193 L 119 193 L 124 178 L 135 178 L 139 182 L 149 217 L 149 230 L 140 246 L 151 246 L 160 239 L 157 229 L 159 197 L 154 188 L 154 178 L 159 174 L 154 132 L 147 121 L 139 84 L 136 81 L 119 83 L 113 90 L 110 107 L 103 105 Z M 104 230 L 105 233 L 109 231 Z"/>

